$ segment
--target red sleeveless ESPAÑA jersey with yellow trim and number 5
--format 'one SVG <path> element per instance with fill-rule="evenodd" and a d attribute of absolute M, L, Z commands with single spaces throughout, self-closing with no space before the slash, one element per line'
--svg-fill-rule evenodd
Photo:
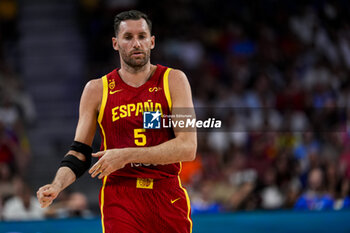
<path fill-rule="evenodd" d="M 169 71 L 170 68 L 157 65 L 152 77 L 140 87 L 127 85 L 120 78 L 118 69 L 102 77 L 103 98 L 98 116 L 101 150 L 156 146 L 174 138 L 172 128 L 143 128 L 144 111 L 159 110 L 166 115 L 171 113 Z M 110 176 L 160 179 L 177 176 L 179 170 L 180 163 L 133 163 Z"/>

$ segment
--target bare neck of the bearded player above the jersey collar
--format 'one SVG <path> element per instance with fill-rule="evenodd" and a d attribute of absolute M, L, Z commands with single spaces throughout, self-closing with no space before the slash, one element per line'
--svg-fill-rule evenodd
<path fill-rule="evenodd" d="M 147 63 L 143 67 L 139 69 L 135 69 L 126 64 L 122 64 L 120 70 L 118 71 L 121 79 L 132 87 L 142 86 L 147 82 L 148 79 L 151 78 L 154 71 L 156 70 L 156 66 L 150 63 Z"/>

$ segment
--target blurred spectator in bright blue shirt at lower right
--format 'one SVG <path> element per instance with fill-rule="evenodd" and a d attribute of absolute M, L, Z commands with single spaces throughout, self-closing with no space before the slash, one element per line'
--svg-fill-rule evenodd
<path fill-rule="evenodd" d="M 295 203 L 295 210 L 331 210 L 333 198 L 325 192 L 324 174 L 320 168 L 313 168 L 308 176 L 308 188 Z"/>

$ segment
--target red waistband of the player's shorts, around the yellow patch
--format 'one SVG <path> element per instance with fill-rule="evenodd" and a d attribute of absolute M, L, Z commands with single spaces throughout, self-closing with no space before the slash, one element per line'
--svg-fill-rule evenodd
<path fill-rule="evenodd" d="M 137 188 L 137 182 L 139 180 L 143 181 L 152 181 L 153 188 L 152 189 L 165 189 L 169 187 L 174 187 L 174 185 L 179 185 L 179 178 L 178 176 L 169 177 L 169 178 L 162 178 L 162 179 L 151 179 L 151 178 L 145 178 L 145 177 L 123 177 L 123 176 L 109 176 L 107 179 L 106 185 L 118 185 L 118 186 L 124 186 L 124 187 L 131 187 L 131 188 Z"/>

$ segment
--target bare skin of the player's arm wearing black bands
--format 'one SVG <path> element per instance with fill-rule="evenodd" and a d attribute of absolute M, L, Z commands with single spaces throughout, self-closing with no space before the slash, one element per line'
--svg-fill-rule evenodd
<path fill-rule="evenodd" d="M 79 121 L 74 141 L 91 146 L 97 127 L 97 115 L 102 100 L 102 81 L 95 79 L 88 82 L 84 88 L 79 107 Z M 73 155 L 81 161 L 86 158 L 82 153 L 69 150 L 67 155 Z M 42 208 L 49 206 L 58 194 L 76 180 L 75 173 L 69 167 L 60 167 L 51 184 L 44 185 L 37 192 Z"/>

